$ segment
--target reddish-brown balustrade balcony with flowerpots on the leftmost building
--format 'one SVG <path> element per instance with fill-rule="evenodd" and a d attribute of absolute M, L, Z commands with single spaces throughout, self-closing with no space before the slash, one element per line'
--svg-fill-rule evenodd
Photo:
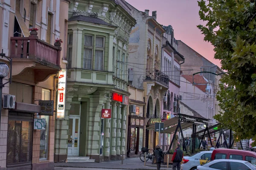
<path fill-rule="evenodd" d="M 32 70 L 38 76 L 35 82 L 41 82 L 50 75 L 61 70 L 61 47 L 55 47 L 40 39 L 38 36 L 11 37 L 12 76 L 25 70 Z"/>

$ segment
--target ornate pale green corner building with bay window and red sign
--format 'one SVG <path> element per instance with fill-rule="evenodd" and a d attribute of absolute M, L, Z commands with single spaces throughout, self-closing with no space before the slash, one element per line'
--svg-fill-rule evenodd
<path fill-rule="evenodd" d="M 66 105 L 57 119 L 55 161 L 120 159 L 130 95 L 125 63 L 136 21 L 122 0 L 71 0 L 68 11 Z M 102 119 L 102 109 L 111 109 L 111 119 Z"/>

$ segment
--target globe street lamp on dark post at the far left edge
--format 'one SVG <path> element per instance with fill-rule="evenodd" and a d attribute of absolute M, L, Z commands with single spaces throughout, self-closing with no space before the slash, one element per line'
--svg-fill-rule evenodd
<path fill-rule="evenodd" d="M 6 57 L 5 53 L 3 53 L 3 50 L 2 50 L 2 53 L 0 53 L 0 56 L 2 58 L 5 57 L 6 59 L 8 59 L 9 62 L 10 62 L 10 66 L 11 66 L 11 69 L 9 69 L 9 67 L 8 67 L 8 65 L 6 63 L 0 62 L 0 124 L 1 124 L 2 91 L 3 91 L 4 85 L 6 85 L 9 82 L 10 82 L 10 84 L 12 83 L 12 59 L 9 58 L 9 57 Z M 11 72 L 9 81 L 3 84 L 3 78 L 8 76 L 9 71 Z"/>

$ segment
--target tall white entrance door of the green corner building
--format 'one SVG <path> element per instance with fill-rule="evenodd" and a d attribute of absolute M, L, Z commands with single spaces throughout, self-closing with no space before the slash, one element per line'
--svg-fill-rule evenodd
<path fill-rule="evenodd" d="M 69 139 L 67 156 L 79 156 L 80 116 L 69 116 Z"/>

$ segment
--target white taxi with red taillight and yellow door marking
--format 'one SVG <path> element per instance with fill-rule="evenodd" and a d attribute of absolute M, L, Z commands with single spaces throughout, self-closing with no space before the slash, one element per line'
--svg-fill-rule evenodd
<path fill-rule="evenodd" d="M 210 161 L 212 151 L 202 151 L 192 156 L 184 156 L 181 164 L 181 170 L 196 170 L 198 165 Z"/>

